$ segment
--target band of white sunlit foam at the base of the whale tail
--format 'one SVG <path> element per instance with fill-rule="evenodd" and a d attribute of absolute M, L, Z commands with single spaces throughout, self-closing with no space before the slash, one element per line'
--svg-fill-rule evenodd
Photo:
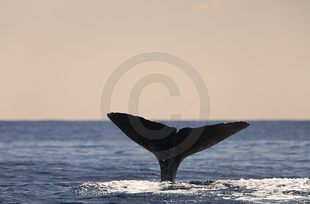
<path fill-rule="evenodd" d="M 240 179 L 188 182 L 150 182 L 145 180 L 121 180 L 87 182 L 79 186 L 79 193 L 91 196 L 207 196 L 221 199 L 269 203 L 310 201 L 310 179 Z"/>

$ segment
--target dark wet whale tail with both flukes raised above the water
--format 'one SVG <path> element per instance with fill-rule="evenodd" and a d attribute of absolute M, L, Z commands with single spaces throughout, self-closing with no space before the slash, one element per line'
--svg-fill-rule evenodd
<path fill-rule="evenodd" d="M 161 169 L 161 182 L 175 182 L 180 163 L 189 155 L 212 147 L 250 124 L 244 121 L 198 128 L 177 129 L 126 113 L 108 113 L 108 118 L 135 143 L 152 152 Z"/>

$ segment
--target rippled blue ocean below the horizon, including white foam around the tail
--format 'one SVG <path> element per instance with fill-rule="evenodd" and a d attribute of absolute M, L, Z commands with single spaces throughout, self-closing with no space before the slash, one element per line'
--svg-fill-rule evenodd
<path fill-rule="evenodd" d="M 187 157 L 172 184 L 101 121 L 0 121 L 0 203 L 310 203 L 310 121 L 248 122 Z"/>

